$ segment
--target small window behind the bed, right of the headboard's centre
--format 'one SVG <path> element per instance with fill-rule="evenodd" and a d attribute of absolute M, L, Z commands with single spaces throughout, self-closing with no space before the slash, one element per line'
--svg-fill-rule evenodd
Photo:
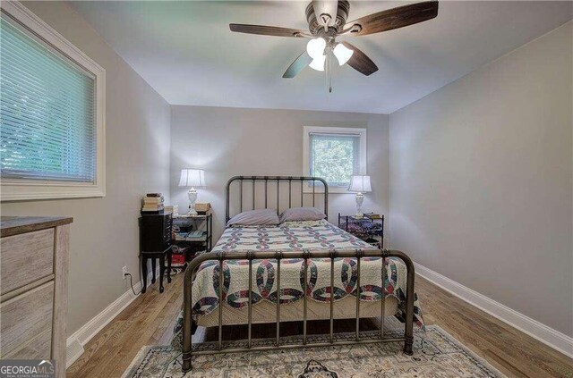
<path fill-rule="evenodd" d="M 366 129 L 304 127 L 304 174 L 321 177 L 334 193 L 366 172 Z M 318 184 L 317 184 L 318 189 Z"/>

